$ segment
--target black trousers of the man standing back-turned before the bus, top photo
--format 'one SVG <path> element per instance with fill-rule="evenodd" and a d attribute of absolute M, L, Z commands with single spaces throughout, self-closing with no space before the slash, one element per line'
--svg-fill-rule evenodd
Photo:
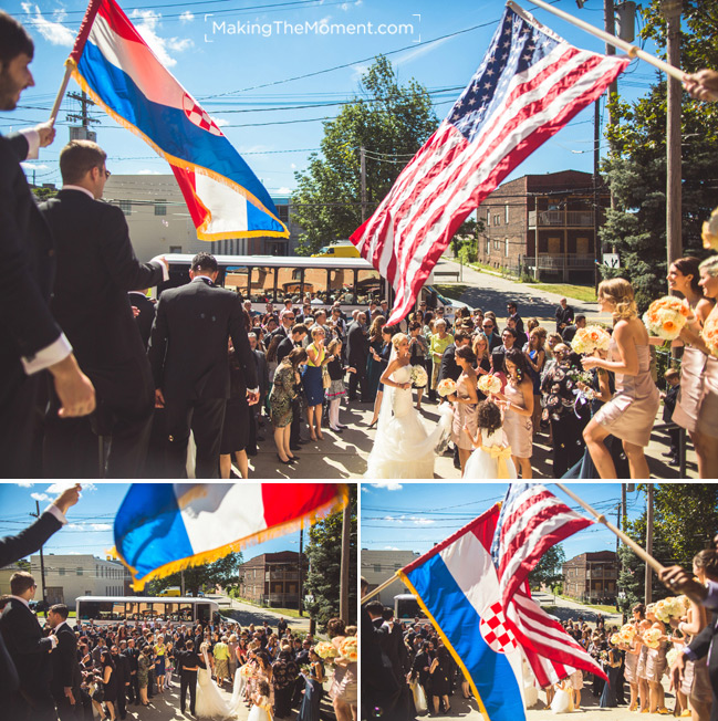
<path fill-rule="evenodd" d="M 225 398 L 183 399 L 165 397 L 167 408 L 166 478 L 187 478 L 187 443 L 195 433 L 196 478 L 219 478 L 219 451 L 225 422 Z"/>

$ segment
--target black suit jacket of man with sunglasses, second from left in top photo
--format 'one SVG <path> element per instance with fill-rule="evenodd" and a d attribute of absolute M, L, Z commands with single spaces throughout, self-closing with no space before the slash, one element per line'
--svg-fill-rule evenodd
<path fill-rule="evenodd" d="M 61 190 L 40 208 L 58 249 L 52 312 L 80 366 L 87 372 L 144 358 L 127 291 L 157 285 L 160 264 L 135 258 L 125 216 L 115 206 Z"/>

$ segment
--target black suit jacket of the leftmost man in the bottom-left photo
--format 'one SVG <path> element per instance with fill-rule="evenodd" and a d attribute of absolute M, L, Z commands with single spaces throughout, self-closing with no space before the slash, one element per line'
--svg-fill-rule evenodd
<path fill-rule="evenodd" d="M 49 694 L 52 641 L 43 637 L 34 614 L 11 598 L 0 616 L 0 633 L 18 669 L 20 689 L 31 698 Z"/>

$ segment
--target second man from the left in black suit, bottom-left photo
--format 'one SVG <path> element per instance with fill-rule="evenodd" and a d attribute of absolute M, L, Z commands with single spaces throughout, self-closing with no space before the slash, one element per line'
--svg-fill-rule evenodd
<path fill-rule="evenodd" d="M 50 691 L 58 707 L 60 721 L 75 721 L 80 702 L 82 675 L 77 663 L 77 638 L 67 626 L 70 612 L 64 604 L 55 604 L 48 610 L 48 624 L 58 639 L 58 648 L 50 655 L 52 682 Z"/>

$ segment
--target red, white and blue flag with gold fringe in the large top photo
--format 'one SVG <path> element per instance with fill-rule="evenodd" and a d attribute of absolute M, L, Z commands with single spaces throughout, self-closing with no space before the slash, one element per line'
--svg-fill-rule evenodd
<path fill-rule="evenodd" d="M 114 0 L 91 0 L 66 64 L 97 105 L 167 159 L 199 239 L 289 236 L 267 189 Z"/>

